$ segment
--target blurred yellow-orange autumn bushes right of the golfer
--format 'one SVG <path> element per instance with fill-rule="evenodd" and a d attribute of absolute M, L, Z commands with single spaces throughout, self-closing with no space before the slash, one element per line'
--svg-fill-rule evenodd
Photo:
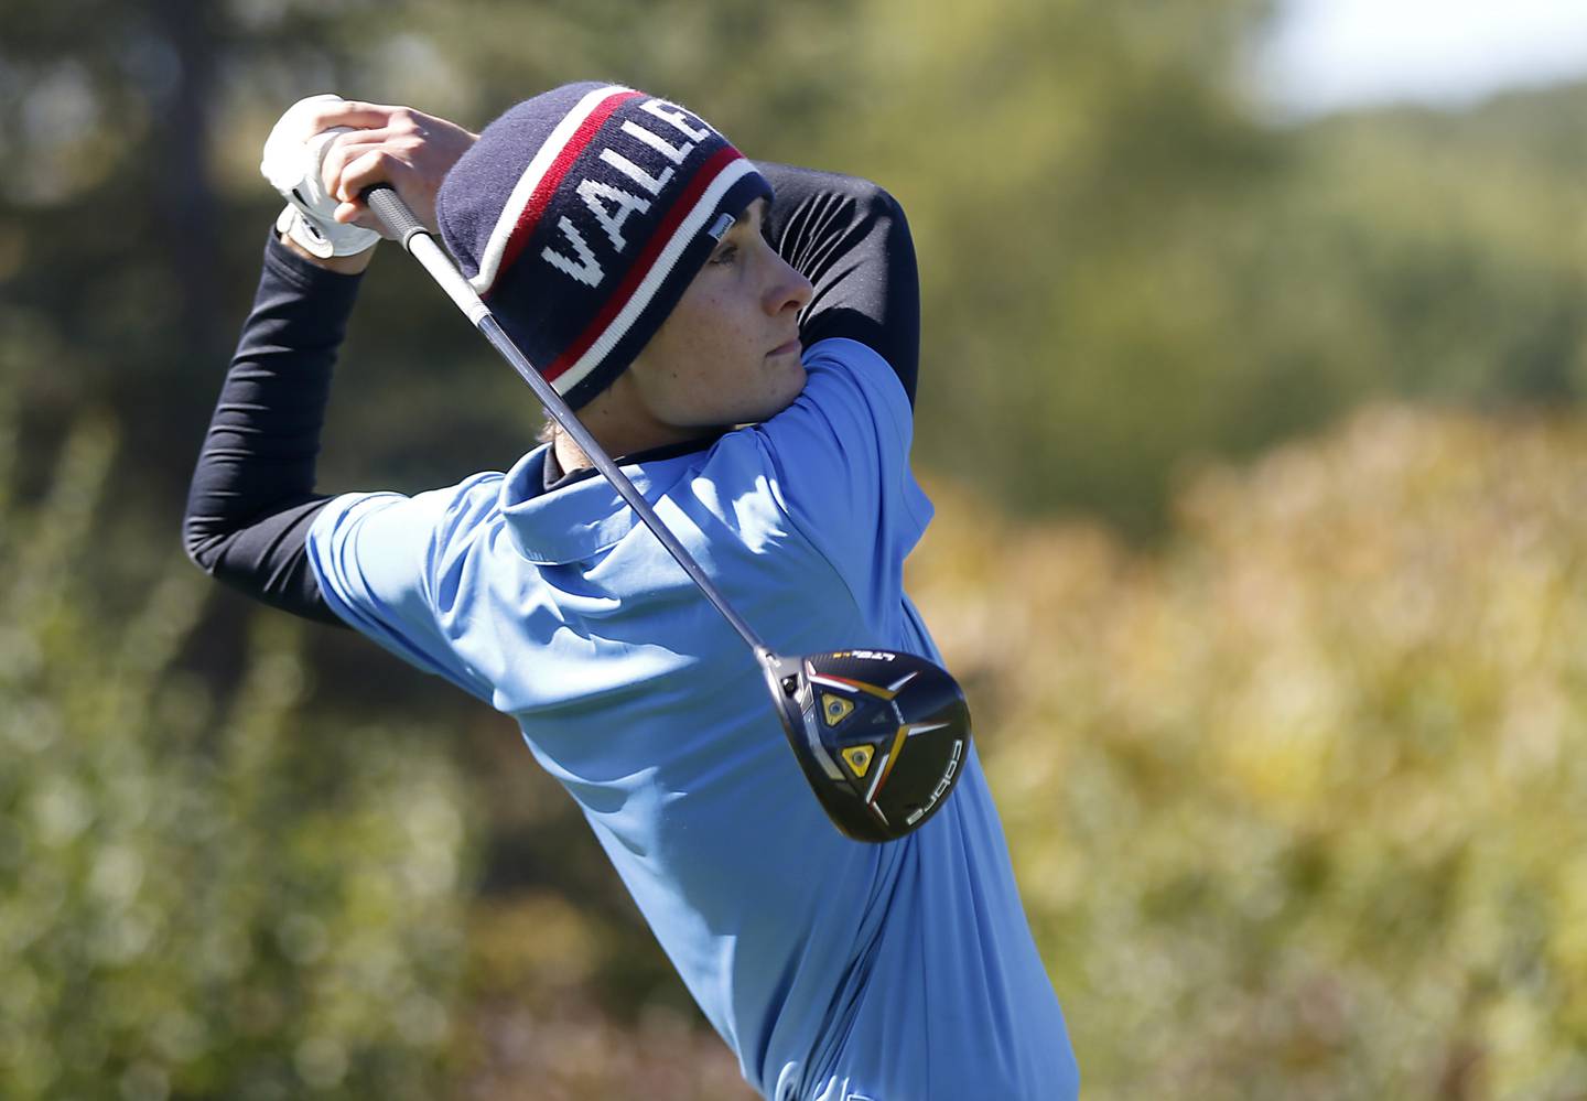
<path fill-rule="evenodd" d="M 1587 1090 L 1584 471 L 1376 408 L 1155 554 L 936 487 L 911 587 L 1090 1096 Z"/>

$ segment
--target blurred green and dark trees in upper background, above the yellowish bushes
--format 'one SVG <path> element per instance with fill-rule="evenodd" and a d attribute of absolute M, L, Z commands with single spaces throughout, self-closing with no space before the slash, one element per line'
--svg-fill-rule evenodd
<path fill-rule="evenodd" d="M 978 482 L 1019 509 L 1149 536 L 1187 457 L 1254 454 L 1366 398 L 1579 397 L 1587 90 L 1278 127 L 1243 63 L 1270 8 L 6 10 L 6 376 L 37 432 L 90 397 L 141 409 L 159 392 L 160 416 L 125 427 L 143 474 L 125 492 L 171 501 L 276 206 L 257 157 L 286 103 L 335 87 L 479 127 L 605 75 L 697 106 L 752 155 L 903 200 L 925 295 L 920 462 L 971 449 Z M 451 305 L 400 257 L 365 298 L 344 387 L 360 400 L 333 409 L 327 476 L 417 487 L 509 463 L 538 414 Z M 419 406 L 433 416 L 406 416 Z"/>

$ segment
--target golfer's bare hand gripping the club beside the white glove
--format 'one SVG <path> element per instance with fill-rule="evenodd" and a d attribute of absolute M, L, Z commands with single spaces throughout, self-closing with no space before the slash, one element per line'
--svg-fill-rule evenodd
<path fill-rule="evenodd" d="M 479 135 L 454 122 L 406 106 L 349 100 L 327 102 L 316 111 L 316 130 L 352 127 L 332 138 L 321 167 L 325 192 L 340 200 L 335 219 L 384 230 L 359 195 L 373 184 L 390 184 L 414 216 L 433 233 L 435 194 L 457 159 Z"/>

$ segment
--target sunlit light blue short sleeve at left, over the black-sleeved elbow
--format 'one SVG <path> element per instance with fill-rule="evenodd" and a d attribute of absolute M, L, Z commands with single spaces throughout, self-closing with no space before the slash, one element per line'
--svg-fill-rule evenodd
<path fill-rule="evenodd" d="M 498 516 L 500 474 L 414 497 L 343 493 L 309 527 L 309 566 L 330 609 L 411 665 L 490 701 L 459 650 Z"/>

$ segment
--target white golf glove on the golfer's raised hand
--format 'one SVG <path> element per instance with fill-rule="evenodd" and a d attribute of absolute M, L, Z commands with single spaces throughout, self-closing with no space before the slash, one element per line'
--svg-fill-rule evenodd
<path fill-rule="evenodd" d="M 321 259 L 354 255 L 375 247 L 381 235 L 362 225 L 338 222 L 333 214 L 341 203 L 325 192 L 319 170 L 332 138 L 351 127 L 332 127 L 319 133 L 309 130 L 316 103 L 341 102 L 340 95 L 309 95 L 286 109 L 270 136 L 265 138 L 259 171 L 287 200 L 276 219 L 276 232 Z"/>

